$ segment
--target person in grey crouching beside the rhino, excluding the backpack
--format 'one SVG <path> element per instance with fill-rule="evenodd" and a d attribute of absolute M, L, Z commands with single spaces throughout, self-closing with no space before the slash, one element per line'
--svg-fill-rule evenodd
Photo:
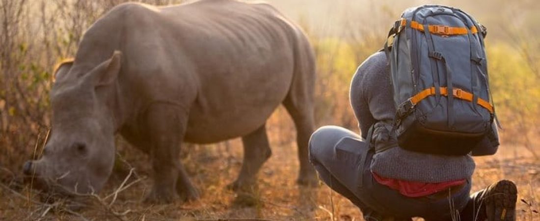
<path fill-rule="evenodd" d="M 517 189 L 509 180 L 469 195 L 475 169 L 470 155 L 397 146 L 389 72 L 384 52 L 377 52 L 353 77 L 350 103 L 362 136 L 338 126 L 313 133 L 309 155 L 320 179 L 358 206 L 366 220 L 515 220 Z M 484 140 L 471 154 L 492 155 L 497 146 Z"/>

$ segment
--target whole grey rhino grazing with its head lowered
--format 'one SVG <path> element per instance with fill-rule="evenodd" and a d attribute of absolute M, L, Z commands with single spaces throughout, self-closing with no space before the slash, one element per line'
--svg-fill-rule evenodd
<path fill-rule="evenodd" d="M 147 202 L 194 200 L 199 192 L 179 160 L 182 142 L 241 137 L 244 161 L 231 186 L 242 189 L 255 184 L 271 156 L 265 124 L 282 104 L 297 133 L 297 182 L 315 185 L 307 149 L 314 83 L 306 35 L 269 4 L 120 4 L 56 69 L 51 136 L 23 172 L 45 192 L 97 193 L 112 173 L 119 134 L 150 156 Z"/>

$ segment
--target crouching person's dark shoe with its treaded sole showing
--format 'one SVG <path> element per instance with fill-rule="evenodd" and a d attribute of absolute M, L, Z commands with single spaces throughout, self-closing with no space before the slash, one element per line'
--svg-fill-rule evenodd
<path fill-rule="evenodd" d="M 516 220 L 517 187 L 510 180 L 488 186 L 482 194 L 488 221 Z"/>

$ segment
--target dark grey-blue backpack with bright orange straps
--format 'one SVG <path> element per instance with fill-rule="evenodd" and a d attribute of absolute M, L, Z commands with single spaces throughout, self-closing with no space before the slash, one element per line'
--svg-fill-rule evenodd
<path fill-rule="evenodd" d="M 493 132 L 486 34 L 473 17 L 440 5 L 407 9 L 394 23 L 384 51 L 401 148 L 467 155 Z"/>

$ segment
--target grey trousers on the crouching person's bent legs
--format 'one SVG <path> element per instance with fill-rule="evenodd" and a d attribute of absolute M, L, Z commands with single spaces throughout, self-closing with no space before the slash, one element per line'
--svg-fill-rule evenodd
<path fill-rule="evenodd" d="M 469 196 L 471 180 L 443 197 L 411 198 L 376 182 L 369 170 L 373 151 L 359 135 L 338 126 L 323 126 L 309 140 L 309 158 L 320 179 L 360 208 L 366 220 L 451 220 L 451 211 L 461 220 L 474 220 L 474 201 Z M 476 206 L 478 207 L 478 206 Z"/>

